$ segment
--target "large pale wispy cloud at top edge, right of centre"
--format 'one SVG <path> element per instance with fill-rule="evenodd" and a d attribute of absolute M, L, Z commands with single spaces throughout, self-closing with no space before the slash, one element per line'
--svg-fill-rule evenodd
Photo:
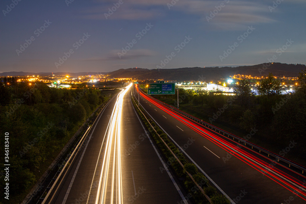
<path fill-rule="evenodd" d="M 221 4 L 222 7 L 220 6 Z M 219 10 L 218 10 L 218 9 Z M 221 9 L 220 9 L 221 8 Z M 184 1 L 174 9 L 200 17 L 207 26 L 221 30 L 243 30 L 249 25 L 272 23 L 268 7 L 261 3 L 246 1 Z M 212 19 L 208 20 L 209 18 Z"/>

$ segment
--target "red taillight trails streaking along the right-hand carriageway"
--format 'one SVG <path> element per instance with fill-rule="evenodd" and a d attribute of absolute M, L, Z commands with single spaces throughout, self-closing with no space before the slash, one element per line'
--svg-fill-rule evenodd
<path fill-rule="evenodd" d="M 137 86 L 136 86 L 136 89 L 137 89 L 137 92 L 138 92 L 138 87 Z M 168 113 L 169 115 L 174 117 L 175 119 L 177 119 L 178 121 L 182 122 L 183 124 L 185 124 L 186 126 L 191 128 L 192 130 L 194 130 L 195 132 L 199 133 L 200 135 L 204 136 L 205 138 L 207 138 L 211 142 L 215 143 L 216 145 L 221 147 L 223 150 L 226 150 L 227 152 L 229 152 L 230 154 L 232 154 L 236 158 L 240 159 L 241 161 L 243 161 L 244 163 L 253 167 L 254 169 L 258 170 L 259 172 L 264 173 L 266 176 L 268 176 L 269 178 L 271 178 L 272 180 L 274 180 L 278 184 L 282 185 L 283 187 L 285 187 L 289 191 L 298 195 L 300 198 L 306 200 L 306 190 L 304 188 L 306 184 L 304 184 L 300 180 L 296 179 L 295 177 L 283 172 L 282 170 L 276 168 L 275 167 L 276 165 L 279 166 L 279 164 L 277 162 L 275 162 L 275 161 L 273 161 L 269 158 L 265 158 L 263 155 L 259 154 L 258 152 L 254 151 L 252 149 L 244 147 L 243 145 L 241 145 L 241 143 L 237 143 L 237 142 L 231 140 L 231 142 L 236 143 L 237 146 L 239 145 L 240 147 L 244 147 L 246 150 L 252 151 L 254 154 L 257 154 L 257 157 L 256 157 L 256 156 L 246 152 L 242 148 L 239 148 L 239 147 L 235 146 L 234 144 L 230 143 L 229 141 L 227 141 L 228 138 L 226 136 L 221 135 L 220 133 L 215 132 L 211 129 L 208 129 L 205 126 L 203 126 L 201 124 L 198 124 L 195 121 L 192 121 L 188 117 L 185 117 L 185 116 L 173 111 L 172 109 L 156 102 L 157 99 L 153 99 L 153 98 L 149 97 L 148 95 L 144 94 L 141 91 L 140 91 L 140 95 L 142 97 L 144 97 L 145 99 L 147 99 L 148 101 L 150 101 L 151 103 L 153 103 L 155 106 L 159 107 L 160 109 L 162 109 L 163 111 L 165 111 L 166 113 Z M 210 125 L 210 126 L 214 127 L 213 125 Z M 208 130 L 213 131 L 214 133 L 209 132 Z M 222 137 L 224 137 L 226 139 L 223 139 Z M 243 140 L 243 139 L 241 139 L 241 140 Z M 256 145 L 254 145 L 254 146 L 256 146 Z M 281 157 L 281 156 L 279 156 L 279 157 Z M 267 162 L 263 161 L 260 158 L 268 159 L 268 160 L 274 162 L 275 166 L 271 165 L 271 164 L 268 164 Z M 285 166 L 281 166 L 281 167 L 286 168 L 287 170 L 290 170 L 293 174 L 296 174 L 296 176 L 297 175 L 303 176 L 303 175 L 297 174 L 296 172 L 292 171 L 291 169 L 289 169 Z M 306 179 L 305 176 L 303 176 L 303 177 L 304 177 L 304 179 Z"/>

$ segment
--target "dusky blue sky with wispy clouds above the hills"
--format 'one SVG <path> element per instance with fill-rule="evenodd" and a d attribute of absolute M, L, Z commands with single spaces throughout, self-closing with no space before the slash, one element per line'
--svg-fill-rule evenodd
<path fill-rule="evenodd" d="M 306 63 L 305 0 L 3 0 L 0 9 L 0 72 Z"/>

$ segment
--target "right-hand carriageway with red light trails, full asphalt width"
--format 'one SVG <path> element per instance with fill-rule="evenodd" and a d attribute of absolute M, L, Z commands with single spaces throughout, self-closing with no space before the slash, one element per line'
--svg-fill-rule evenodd
<path fill-rule="evenodd" d="M 232 203 L 306 203 L 305 176 L 140 93 L 140 104 L 147 113 Z M 136 88 L 134 95 L 138 100 Z M 193 143 L 186 145 L 190 138 Z"/>

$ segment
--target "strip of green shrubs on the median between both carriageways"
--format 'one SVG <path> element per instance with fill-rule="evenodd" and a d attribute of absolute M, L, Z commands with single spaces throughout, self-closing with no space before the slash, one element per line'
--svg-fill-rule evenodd
<path fill-rule="evenodd" d="M 180 178 L 181 184 L 185 188 L 187 192 L 187 196 L 185 199 L 187 201 L 192 200 L 193 203 L 197 204 L 230 204 L 230 200 L 227 199 L 224 195 L 217 191 L 215 187 L 213 187 L 208 179 L 203 175 L 202 172 L 198 171 L 198 168 L 195 164 L 188 161 L 187 158 L 181 153 L 181 151 L 170 141 L 168 135 L 160 129 L 155 122 L 147 115 L 147 113 L 142 109 L 142 107 L 138 107 L 136 105 L 135 99 L 133 97 L 133 105 L 137 110 L 141 120 L 143 121 L 147 130 L 151 133 L 154 142 L 158 146 L 159 150 L 162 152 L 162 155 L 167 160 L 166 166 L 167 168 L 171 168 L 177 178 Z M 154 130 L 153 130 L 153 128 Z M 164 142 L 166 143 L 164 143 Z M 177 159 L 181 162 L 181 164 L 177 161 L 171 151 L 177 157 Z M 161 172 L 166 171 L 164 167 L 159 168 Z M 195 184 L 195 182 L 188 176 L 187 172 L 192 176 L 194 181 L 203 189 L 204 193 L 211 200 L 210 202 L 205 197 L 205 195 L 200 191 L 199 187 Z"/>

